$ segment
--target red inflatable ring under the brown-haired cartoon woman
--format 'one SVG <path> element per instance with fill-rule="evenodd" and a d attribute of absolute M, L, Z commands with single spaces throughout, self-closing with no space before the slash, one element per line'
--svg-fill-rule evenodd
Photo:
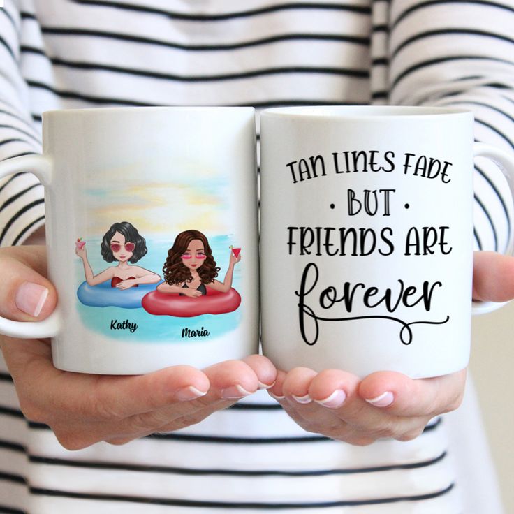
<path fill-rule="evenodd" d="M 152 291 L 143 296 L 141 303 L 149 314 L 191 318 L 202 314 L 225 314 L 235 311 L 240 306 L 241 296 L 233 288 L 226 293 L 220 293 L 207 286 L 207 295 L 198 298 Z"/>

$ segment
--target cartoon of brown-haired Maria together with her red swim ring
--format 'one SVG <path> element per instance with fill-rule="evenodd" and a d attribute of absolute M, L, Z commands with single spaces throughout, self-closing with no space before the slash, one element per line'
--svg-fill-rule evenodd
<path fill-rule="evenodd" d="M 241 297 L 232 282 L 240 251 L 230 247 L 228 270 L 221 282 L 216 280 L 220 268 L 216 267 L 207 237 L 198 230 L 179 233 L 164 263 L 164 282 L 145 296 L 142 307 L 150 314 L 181 317 L 235 311 Z"/>

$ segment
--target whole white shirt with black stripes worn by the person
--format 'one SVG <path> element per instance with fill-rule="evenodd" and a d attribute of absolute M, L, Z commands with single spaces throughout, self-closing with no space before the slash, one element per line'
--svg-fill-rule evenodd
<path fill-rule="evenodd" d="M 0 159 L 41 152 L 45 110 L 117 105 L 458 105 L 475 110 L 477 140 L 513 149 L 512 0 L 5 3 Z M 44 223 L 29 172 L 0 182 L 3 246 Z M 512 208 L 488 161 L 475 214 L 476 247 L 502 251 Z M 499 512 L 459 494 L 446 420 L 354 447 L 258 393 L 173 434 L 71 453 L 23 418 L 0 369 L 0 512 Z"/>

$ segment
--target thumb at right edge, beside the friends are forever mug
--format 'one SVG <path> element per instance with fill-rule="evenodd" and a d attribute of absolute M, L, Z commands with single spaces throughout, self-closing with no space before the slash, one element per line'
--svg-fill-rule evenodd
<path fill-rule="evenodd" d="M 473 299 L 506 302 L 514 298 L 514 257 L 476 251 L 473 258 Z"/>

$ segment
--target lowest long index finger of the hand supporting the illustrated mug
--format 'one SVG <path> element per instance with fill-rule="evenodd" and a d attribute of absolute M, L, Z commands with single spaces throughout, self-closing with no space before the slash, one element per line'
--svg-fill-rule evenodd
<path fill-rule="evenodd" d="M 62 416 L 82 423 L 119 420 L 205 394 L 210 386 L 207 376 L 190 366 L 138 376 L 70 373 L 52 365 L 50 348 L 41 341 L 6 338 L 4 346 L 20 400 L 29 399 L 34 415 L 46 418 L 42 421 Z"/>

